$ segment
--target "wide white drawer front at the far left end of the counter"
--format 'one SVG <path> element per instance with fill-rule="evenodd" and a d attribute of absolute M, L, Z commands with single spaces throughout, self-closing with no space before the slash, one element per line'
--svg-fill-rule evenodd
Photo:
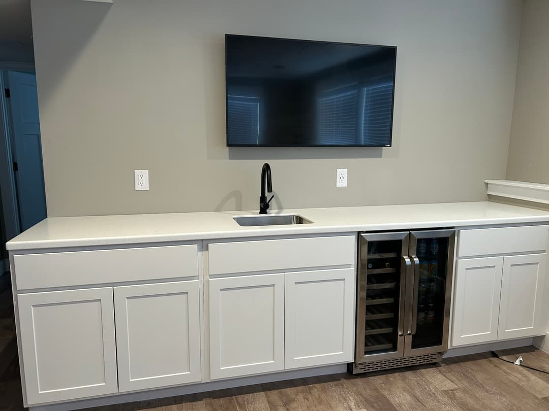
<path fill-rule="evenodd" d="M 198 246 L 13 256 L 18 290 L 198 276 Z"/>

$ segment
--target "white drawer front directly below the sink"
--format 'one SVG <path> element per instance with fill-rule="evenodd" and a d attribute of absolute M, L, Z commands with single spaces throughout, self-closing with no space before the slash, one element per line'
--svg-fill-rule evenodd
<path fill-rule="evenodd" d="M 355 236 L 210 243 L 210 275 L 351 265 Z"/>

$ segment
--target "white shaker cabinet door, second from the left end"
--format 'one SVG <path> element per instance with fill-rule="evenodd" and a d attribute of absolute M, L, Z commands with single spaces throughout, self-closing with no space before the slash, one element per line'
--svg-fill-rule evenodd
<path fill-rule="evenodd" d="M 119 389 L 200 381 L 198 280 L 114 287 Z"/>

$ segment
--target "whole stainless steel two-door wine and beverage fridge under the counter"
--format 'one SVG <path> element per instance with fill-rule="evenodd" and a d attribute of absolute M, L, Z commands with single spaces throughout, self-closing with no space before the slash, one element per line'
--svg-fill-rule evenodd
<path fill-rule="evenodd" d="M 448 348 L 455 230 L 363 233 L 353 374 L 439 362 Z"/>

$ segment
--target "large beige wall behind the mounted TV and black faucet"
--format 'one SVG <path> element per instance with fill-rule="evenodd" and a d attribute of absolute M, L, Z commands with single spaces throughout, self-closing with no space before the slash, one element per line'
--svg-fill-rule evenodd
<path fill-rule="evenodd" d="M 48 214 L 256 209 L 265 161 L 275 208 L 486 199 L 506 171 L 520 7 L 33 0 Z M 226 32 L 397 45 L 394 146 L 227 149 Z"/>

